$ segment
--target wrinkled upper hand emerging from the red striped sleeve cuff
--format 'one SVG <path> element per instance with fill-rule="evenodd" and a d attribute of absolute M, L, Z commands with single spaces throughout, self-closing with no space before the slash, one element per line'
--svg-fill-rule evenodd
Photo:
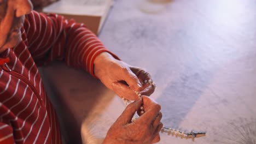
<path fill-rule="evenodd" d="M 135 92 L 149 96 L 155 90 L 147 71 L 119 61 L 107 52 L 96 57 L 94 73 L 106 87 L 128 100 L 139 99 Z"/>

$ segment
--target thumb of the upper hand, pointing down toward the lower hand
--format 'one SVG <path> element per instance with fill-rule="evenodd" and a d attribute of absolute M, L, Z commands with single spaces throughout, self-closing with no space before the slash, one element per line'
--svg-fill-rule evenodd
<path fill-rule="evenodd" d="M 139 96 L 130 87 L 121 82 L 113 82 L 112 89 L 120 98 L 139 100 Z"/>

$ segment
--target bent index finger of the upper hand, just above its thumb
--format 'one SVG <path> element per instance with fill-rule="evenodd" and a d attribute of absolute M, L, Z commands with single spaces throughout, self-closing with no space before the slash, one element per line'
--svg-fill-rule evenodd
<path fill-rule="evenodd" d="M 127 84 L 132 88 L 134 91 L 141 91 L 141 82 L 139 81 L 138 77 L 131 71 L 130 68 L 124 69 L 123 80 L 127 82 Z"/>

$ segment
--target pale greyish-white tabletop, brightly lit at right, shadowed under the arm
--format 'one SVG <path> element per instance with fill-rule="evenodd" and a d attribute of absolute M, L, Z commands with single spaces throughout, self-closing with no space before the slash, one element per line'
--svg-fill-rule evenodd
<path fill-rule="evenodd" d="M 99 38 L 156 83 L 162 123 L 206 136 L 161 133 L 159 143 L 256 143 L 256 1 L 115 1 Z M 82 70 L 40 70 L 67 143 L 101 143 L 125 109 Z M 81 138 L 82 137 L 82 138 Z"/>

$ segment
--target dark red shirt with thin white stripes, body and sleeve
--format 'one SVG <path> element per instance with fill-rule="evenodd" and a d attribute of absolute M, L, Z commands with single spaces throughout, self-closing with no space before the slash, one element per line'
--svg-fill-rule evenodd
<path fill-rule="evenodd" d="M 94 59 L 109 51 L 83 24 L 56 14 L 32 11 L 21 33 L 18 46 L 0 53 L 0 143 L 61 143 L 37 67 L 59 60 L 94 76 Z"/>

